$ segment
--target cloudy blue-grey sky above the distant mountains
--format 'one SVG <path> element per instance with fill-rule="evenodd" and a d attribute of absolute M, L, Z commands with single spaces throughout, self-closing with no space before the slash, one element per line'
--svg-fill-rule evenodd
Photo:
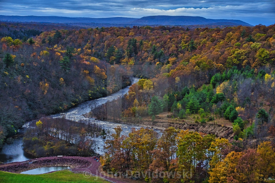
<path fill-rule="evenodd" d="M 275 24 L 274 0 L 0 0 L 0 15 L 131 17 L 151 15 L 239 19 Z"/>

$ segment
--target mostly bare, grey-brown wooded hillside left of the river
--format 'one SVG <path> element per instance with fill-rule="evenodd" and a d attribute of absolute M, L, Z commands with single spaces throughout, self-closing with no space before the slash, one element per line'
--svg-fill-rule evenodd
<path fill-rule="evenodd" d="M 124 67 L 109 67 L 95 57 L 85 60 L 53 31 L 52 45 L 29 38 L 1 38 L 1 145 L 27 120 L 66 110 L 131 84 Z M 47 40 L 48 41 L 48 40 Z M 110 68 L 110 69 L 107 69 Z M 108 70 L 108 77 L 107 77 Z"/>

